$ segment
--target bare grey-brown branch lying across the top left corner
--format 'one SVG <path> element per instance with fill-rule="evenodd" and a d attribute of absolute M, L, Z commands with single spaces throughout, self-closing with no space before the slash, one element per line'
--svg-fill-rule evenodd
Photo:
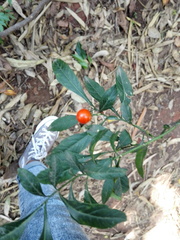
<path fill-rule="evenodd" d="M 26 19 L 24 19 L 21 22 L 16 23 L 15 25 L 7 28 L 6 30 L 0 32 L 0 38 L 1 37 L 6 37 L 7 35 L 9 35 L 10 33 L 24 27 L 26 24 L 28 24 L 29 22 L 31 22 L 33 19 L 35 19 L 38 14 L 41 12 L 41 10 L 43 9 L 43 7 L 48 4 L 51 0 L 42 0 L 39 5 L 37 6 L 37 8 L 34 10 L 33 13 L 31 13 L 31 15 L 29 15 L 29 17 L 27 17 Z"/>

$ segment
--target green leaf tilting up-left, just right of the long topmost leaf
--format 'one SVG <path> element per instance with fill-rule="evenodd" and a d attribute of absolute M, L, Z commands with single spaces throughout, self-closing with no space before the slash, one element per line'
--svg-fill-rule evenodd
<path fill-rule="evenodd" d="M 93 81 L 92 79 L 85 77 L 85 87 L 88 90 L 89 94 L 96 99 L 98 102 L 102 100 L 102 97 L 105 93 L 105 90 L 103 87 L 99 85 L 99 83 Z"/>

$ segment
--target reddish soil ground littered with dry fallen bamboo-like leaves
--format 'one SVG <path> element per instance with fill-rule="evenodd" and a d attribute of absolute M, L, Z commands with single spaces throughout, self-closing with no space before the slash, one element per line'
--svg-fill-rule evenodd
<path fill-rule="evenodd" d="M 26 16 L 38 4 L 17 2 Z M 136 123 L 144 112 L 141 126 L 153 135 L 160 133 L 164 124 L 180 119 L 179 1 L 66 2 L 51 2 L 41 16 L 9 35 L 0 46 L 1 223 L 19 217 L 17 161 L 36 125 L 48 115 L 64 116 L 84 106 L 55 80 L 54 59 L 66 61 L 79 79 L 88 75 L 105 88 L 113 85 L 115 69 L 121 66 L 134 89 L 133 121 Z M 15 10 L 16 19 L 22 20 Z M 72 58 L 78 41 L 93 59 L 88 70 Z M 22 62 L 15 65 L 15 60 Z M 24 60 L 34 61 L 30 65 Z M 9 89 L 13 95 L 8 95 Z M 111 123 L 110 128 L 114 127 Z M 111 199 L 108 205 L 123 210 L 127 221 L 105 230 L 85 226 L 90 239 L 180 238 L 179 134 L 178 127 L 149 146 L 144 179 L 137 174 L 134 156 L 122 159 L 130 190 L 122 201 Z M 97 199 L 99 187 L 92 182 Z M 74 191 L 80 198 L 81 181 Z"/>

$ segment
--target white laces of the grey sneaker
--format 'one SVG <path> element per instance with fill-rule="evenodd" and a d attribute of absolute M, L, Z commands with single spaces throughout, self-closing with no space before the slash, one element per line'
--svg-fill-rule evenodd
<path fill-rule="evenodd" d="M 43 132 L 44 130 L 44 132 Z M 51 147 L 51 142 L 54 142 L 55 133 L 47 131 L 46 128 L 41 129 L 39 137 L 32 136 L 32 147 L 28 153 L 28 159 L 41 160 L 47 156 L 48 150 Z"/>

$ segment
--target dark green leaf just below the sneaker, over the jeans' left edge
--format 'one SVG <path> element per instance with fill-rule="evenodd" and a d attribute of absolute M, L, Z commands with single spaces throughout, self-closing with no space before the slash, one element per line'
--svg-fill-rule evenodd
<path fill-rule="evenodd" d="M 22 186 L 34 195 L 45 196 L 38 178 L 24 168 L 18 169 L 18 177 L 20 178 L 20 183 Z"/>

